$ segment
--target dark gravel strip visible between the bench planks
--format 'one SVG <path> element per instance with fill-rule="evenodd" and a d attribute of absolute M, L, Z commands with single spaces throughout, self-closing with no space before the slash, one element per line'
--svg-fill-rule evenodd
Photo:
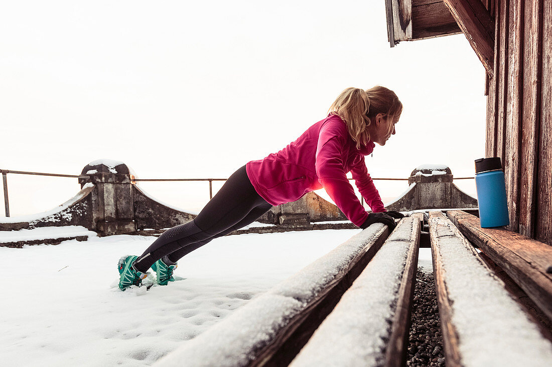
<path fill-rule="evenodd" d="M 408 337 L 407 366 L 445 366 L 433 273 L 418 268 Z"/>

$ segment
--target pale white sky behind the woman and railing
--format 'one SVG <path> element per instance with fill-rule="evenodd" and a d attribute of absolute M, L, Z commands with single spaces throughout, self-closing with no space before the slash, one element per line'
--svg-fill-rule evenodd
<path fill-rule="evenodd" d="M 384 3 L 1 0 L 0 168 L 77 175 L 105 158 L 142 179 L 226 178 L 294 141 L 343 89 L 379 84 L 404 112 L 367 157 L 371 176 L 422 164 L 473 176 L 484 67 L 463 35 L 390 48 Z M 209 195 L 206 183 L 140 186 L 184 209 Z M 407 185 L 376 186 L 394 197 Z M 79 190 L 15 174 L 8 187 L 12 216 Z"/>

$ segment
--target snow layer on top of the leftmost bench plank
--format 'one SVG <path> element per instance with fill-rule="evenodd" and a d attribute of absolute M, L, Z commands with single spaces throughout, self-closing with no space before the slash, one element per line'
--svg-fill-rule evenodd
<path fill-rule="evenodd" d="M 357 232 L 352 238 L 156 365 L 181 366 L 182 361 L 187 366 L 248 365 L 254 358 L 252 352 L 266 346 L 288 320 L 305 309 L 307 303 L 335 279 L 383 228 L 383 224 L 376 223 L 363 231 L 352 230 Z"/>

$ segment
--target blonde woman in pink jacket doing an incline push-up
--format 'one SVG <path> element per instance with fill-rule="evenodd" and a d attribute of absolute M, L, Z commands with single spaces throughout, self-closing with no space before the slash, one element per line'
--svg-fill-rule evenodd
<path fill-rule="evenodd" d="M 330 114 L 296 141 L 232 174 L 193 220 L 165 231 L 141 256 L 121 257 L 119 288 L 141 285 L 150 267 L 157 283 L 166 285 L 187 253 L 254 222 L 272 206 L 322 187 L 360 228 L 379 222 L 393 229 L 393 218 L 402 214 L 385 212 L 364 156 L 373 151 L 374 143 L 385 145 L 395 134 L 401 112 L 399 98 L 387 88 L 347 88 L 333 102 Z M 349 171 L 373 213 L 360 204 L 346 177 Z"/>

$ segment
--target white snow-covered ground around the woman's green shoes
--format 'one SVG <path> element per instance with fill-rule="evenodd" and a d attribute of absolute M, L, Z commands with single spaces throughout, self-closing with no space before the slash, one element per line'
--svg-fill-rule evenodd
<path fill-rule="evenodd" d="M 2 247 L 1 364 L 150 365 L 358 231 L 226 236 L 179 262 L 185 279 L 147 292 L 120 292 L 116 263 L 153 237 Z M 431 271 L 428 251 L 420 265 Z"/>

